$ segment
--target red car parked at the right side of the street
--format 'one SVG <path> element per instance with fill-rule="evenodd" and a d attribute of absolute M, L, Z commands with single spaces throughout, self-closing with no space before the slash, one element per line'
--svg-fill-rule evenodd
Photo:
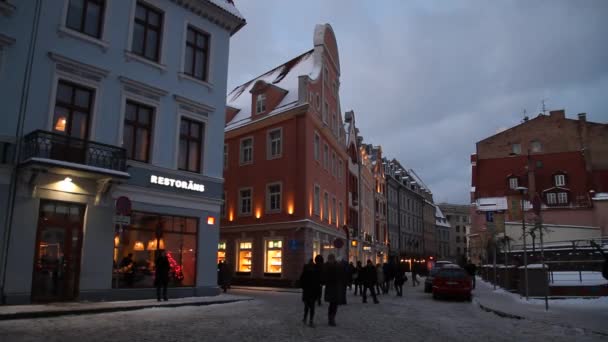
<path fill-rule="evenodd" d="M 469 274 L 457 265 L 446 265 L 433 278 L 433 298 L 462 297 L 471 300 L 473 284 Z"/>

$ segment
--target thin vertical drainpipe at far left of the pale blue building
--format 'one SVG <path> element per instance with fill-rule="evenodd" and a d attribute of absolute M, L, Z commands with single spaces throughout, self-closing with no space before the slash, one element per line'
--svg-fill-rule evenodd
<path fill-rule="evenodd" d="M 29 98 L 29 90 L 30 90 L 30 82 L 32 77 L 32 68 L 34 55 L 36 51 L 36 40 L 38 38 L 38 25 L 40 23 L 40 12 L 41 12 L 42 3 L 40 0 L 36 1 L 36 5 L 34 7 L 34 18 L 32 21 L 32 31 L 30 33 L 30 44 L 28 46 L 27 51 L 27 64 L 25 66 L 25 78 L 23 81 L 23 86 L 21 88 L 21 99 L 19 104 L 19 116 L 17 119 L 17 129 L 15 132 L 16 143 L 15 143 L 15 152 L 13 153 L 13 167 L 11 169 L 11 183 L 9 188 L 9 196 L 8 203 L 6 205 L 6 217 L 4 218 L 4 236 L 2 241 L 2 268 L 0 268 L 1 276 L 0 276 L 0 295 L 2 296 L 1 302 L 2 304 L 6 304 L 6 293 L 4 291 L 4 286 L 6 284 L 6 265 L 8 264 L 8 248 L 9 248 L 9 240 L 11 238 L 11 228 L 12 228 L 12 220 L 13 220 L 13 210 L 15 207 L 15 197 L 17 194 L 17 165 L 21 160 L 21 145 L 23 138 L 23 125 L 25 121 L 25 115 L 27 113 L 27 103 Z"/>

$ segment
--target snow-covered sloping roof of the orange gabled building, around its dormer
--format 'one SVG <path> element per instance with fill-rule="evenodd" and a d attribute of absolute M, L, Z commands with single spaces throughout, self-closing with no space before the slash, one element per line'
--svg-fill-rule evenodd
<path fill-rule="evenodd" d="M 264 81 L 285 90 L 287 93 L 281 102 L 262 118 L 283 113 L 298 105 L 299 76 L 317 79 L 321 72 L 321 58 L 315 50 L 309 50 L 296 58 L 279 65 L 265 74 L 234 88 L 227 96 L 226 105 L 238 110 L 234 118 L 226 124 L 226 131 L 252 122 L 251 89 L 258 81 Z"/>

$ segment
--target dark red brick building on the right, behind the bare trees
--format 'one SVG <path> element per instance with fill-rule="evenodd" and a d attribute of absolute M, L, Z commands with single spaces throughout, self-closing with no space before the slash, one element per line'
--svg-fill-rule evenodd
<path fill-rule="evenodd" d="M 484 259 L 489 238 L 486 211 L 504 217 L 504 230 L 521 241 L 521 199 L 525 220 L 534 225 L 531 201 L 538 196 L 545 241 L 608 235 L 608 125 L 568 119 L 563 110 L 531 120 L 477 143 L 471 156 L 471 257 Z M 500 227 L 499 229 L 502 228 Z M 527 244 L 532 239 L 528 238 Z"/>

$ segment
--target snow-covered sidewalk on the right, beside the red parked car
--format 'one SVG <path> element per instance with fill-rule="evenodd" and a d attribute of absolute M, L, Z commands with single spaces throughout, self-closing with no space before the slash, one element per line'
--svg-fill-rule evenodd
<path fill-rule="evenodd" d="M 608 336 L 608 297 L 550 299 L 549 311 L 545 311 L 544 299 L 526 301 L 525 297 L 500 287 L 494 290 L 492 284 L 479 277 L 473 296 L 482 309 L 501 316 L 581 328 Z"/>

